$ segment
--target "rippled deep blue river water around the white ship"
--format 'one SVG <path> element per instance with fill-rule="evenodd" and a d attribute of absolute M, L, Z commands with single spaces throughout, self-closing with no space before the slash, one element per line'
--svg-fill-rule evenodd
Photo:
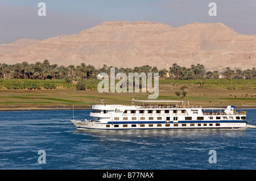
<path fill-rule="evenodd" d="M 0 169 L 253 170 L 256 110 L 243 111 L 248 128 L 115 131 L 77 131 L 72 110 L 0 111 Z"/>

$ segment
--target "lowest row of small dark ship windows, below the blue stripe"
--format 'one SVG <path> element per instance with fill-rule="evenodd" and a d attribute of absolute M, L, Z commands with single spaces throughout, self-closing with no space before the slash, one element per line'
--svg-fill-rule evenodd
<path fill-rule="evenodd" d="M 198 123 L 198 124 L 191 123 L 191 124 L 173 124 L 173 125 L 174 125 L 174 127 L 179 127 L 179 125 L 181 125 L 181 127 L 188 127 L 188 126 L 189 127 L 195 127 L 195 126 L 197 126 L 197 127 L 201 127 L 201 126 L 203 126 L 203 127 L 207 127 L 207 126 L 212 127 L 213 125 L 218 127 L 218 126 L 220 126 L 220 123 L 215 123 L 215 124 L 213 124 L 213 123 L 209 123 L 209 124 L 207 124 L 207 123 L 204 123 L 204 124 L 201 124 L 201 123 Z M 121 125 L 120 125 L 120 127 L 121 127 Z M 127 128 L 128 125 L 127 124 L 123 124 L 122 127 L 123 128 Z M 137 127 L 137 124 L 131 124 L 131 127 Z M 139 124 L 139 127 L 145 127 L 145 124 Z M 148 127 L 171 127 L 171 124 L 148 124 Z M 110 125 L 107 124 L 106 128 L 110 128 Z M 119 128 L 119 124 L 115 124 L 114 128 Z"/>

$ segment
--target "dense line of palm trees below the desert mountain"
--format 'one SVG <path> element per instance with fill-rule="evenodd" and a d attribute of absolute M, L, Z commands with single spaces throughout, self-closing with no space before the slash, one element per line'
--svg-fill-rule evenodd
<path fill-rule="evenodd" d="M 36 62 L 35 64 L 28 64 L 28 62 L 16 63 L 13 65 L 0 64 L 0 78 L 17 78 L 17 79 L 66 79 L 70 81 L 72 79 L 97 79 L 99 73 L 105 72 L 110 74 L 110 68 L 113 66 L 103 65 L 102 68 L 96 69 L 93 65 L 69 65 L 58 66 L 57 64 L 50 64 L 48 60 L 42 62 Z M 170 75 L 170 79 L 217 79 L 220 76 L 219 71 L 206 71 L 204 65 L 197 64 L 191 65 L 190 68 L 181 67 L 177 64 L 173 64 L 169 69 L 158 70 L 156 66 L 151 67 L 143 65 L 135 68 L 115 68 L 115 73 L 159 73 L 160 78 L 166 78 L 167 73 Z M 222 72 L 222 76 L 226 79 L 255 79 L 255 68 L 247 70 L 232 70 L 226 68 Z"/>

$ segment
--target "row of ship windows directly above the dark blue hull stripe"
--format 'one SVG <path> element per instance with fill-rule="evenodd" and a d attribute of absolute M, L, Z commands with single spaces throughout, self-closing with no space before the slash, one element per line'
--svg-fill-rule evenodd
<path fill-rule="evenodd" d="M 166 117 L 167 121 L 170 121 L 171 117 Z M 213 119 L 213 116 L 209 116 L 208 119 Z M 220 116 L 216 116 L 216 119 L 221 119 Z M 228 116 L 222 116 L 222 119 L 228 119 Z M 233 116 L 229 116 L 229 119 L 234 119 Z M 240 120 L 240 116 L 236 116 L 237 120 Z M 242 117 L 243 119 L 243 117 Z M 119 117 L 114 117 L 114 120 L 119 120 Z M 128 117 L 123 117 L 123 120 L 128 120 Z M 137 117 L 131 117 L 131 120 L 137 120 Z M 145 117 L 140 117 L 140 120 L 145 120 Z M 148 120 L 154 120 L 154 117 L 148 117 Z M 162 116 L 156 117 L 156 120 L 162 120 Z M 177 117 L 173 117 L 173 120 L 177 120 Z M 192 117 L 185 117 L 185 120 L 192 120 Z M 197 120 L 204 120 L 204 117 L 197 117 Z"/>

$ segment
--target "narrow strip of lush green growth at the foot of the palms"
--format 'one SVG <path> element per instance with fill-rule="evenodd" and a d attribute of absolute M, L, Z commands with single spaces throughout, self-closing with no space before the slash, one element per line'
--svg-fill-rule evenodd
<path fill-rule="evenodd" d="M 81 81 L 77 80 L 76 81 Z M 86 89 L 97 90 L 98 79 L 84 79 Z M 115 81 L 118 82 L 117 80 Z M 127 81 L 128 83 L 128 81 Z M 154 83 L 153 83 L 154 85 Z M 196 80 L 174 80 L 159 79 L 159 85 L 187 85 L 198 89 L 217 89 L 217 90 L 256 90 L 256 79 L 196 79 Z M 68 83 L 64 79 L 0 79 L 0 89 L 76 89 L 75 83 Z"/>

